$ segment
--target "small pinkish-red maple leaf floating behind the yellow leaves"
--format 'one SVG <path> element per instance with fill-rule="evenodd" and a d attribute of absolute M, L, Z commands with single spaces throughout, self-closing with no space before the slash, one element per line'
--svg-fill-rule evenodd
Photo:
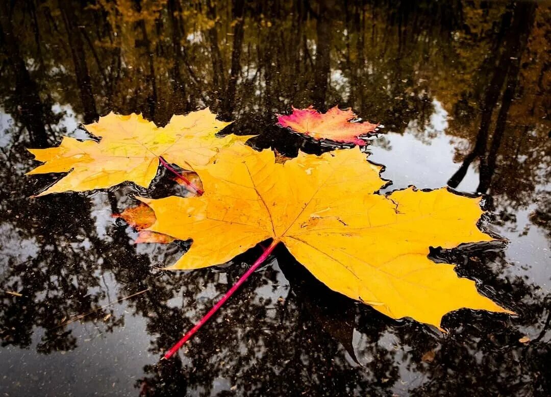
<path fill-rule="evenodd" d="M 339 109 L 338 106 L 334 106 L 326 113 L 320 113 L 313 106 L 306 109 L 293 107 L 292 114 L 278 115 L 277 125 L 288 127 L 315 140 L 325 139 L 364 146 L 365 141 L 360 136 L 374 133 L 377 124 L 350 121 L 356 118 L 350 108 Z"/>

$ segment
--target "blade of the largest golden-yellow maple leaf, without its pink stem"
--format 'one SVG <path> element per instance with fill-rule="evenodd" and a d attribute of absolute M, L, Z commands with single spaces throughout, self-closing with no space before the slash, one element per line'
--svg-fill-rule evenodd
<path fill-rule="evenodd" d="M 141 200 L 155 212 L 149 230 L 193 239 L 171 269 L 223 264 L 272 238 L 329 288 L 395 319 L 440 327 L 463 307 L 512 313 L 428 258 L 429 246 L 492 239 L 476 225 L 480 199 L 445 188 L 375 194 L 380 170 L 358 149 L 280 164 L 271 151 L 235 144 L 196 169 L 203 196 Z"/>

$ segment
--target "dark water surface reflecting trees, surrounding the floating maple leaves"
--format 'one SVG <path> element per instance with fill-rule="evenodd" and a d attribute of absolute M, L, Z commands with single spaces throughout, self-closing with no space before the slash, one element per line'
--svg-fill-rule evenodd
<path fill-rule="evenodd" d="M 190 3 L 0 2 L 0 395 L 549 395 L 548 4 Z M 280 247 L 159 363 L 261 248 L 155 270 L 185 246 L 132 243 L 111 218 L 131 186 L 30 199 L 57 176 L 24 176 L 37 165 L 24 148 L 84 138 L 79 125 L 111 110 L 163 125 L 210 106 L 236 120 L 229 132 L 260 134 L 253 146 L 318 153 L 274 126 L 276 112 L 310 104 L 385 126 L 369 151 L 387 190 L 488 195 L 485 221 L 508 246 L 434 256 L 519 315 L 460 310 L 447 334 L 391 320 Z M 150 193 L 169 187 L 160 176 Z"/>

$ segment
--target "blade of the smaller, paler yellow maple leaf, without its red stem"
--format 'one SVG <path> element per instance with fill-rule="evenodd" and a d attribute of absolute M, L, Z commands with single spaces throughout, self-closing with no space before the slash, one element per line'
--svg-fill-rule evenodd
<path fill-rule="evenodd" d="M 86 129 L 101 138 L 78 141 L 63 137 L 58 147 L 29 149 L 39 165 L 28 174 L 69 172 L 38 196 L 54 192 L 104 189 L 125 181 L 149 187 L 157 173 L 159 157 L 185 169 L 207 164 L 219 147 L 249 136 L 218 138 L 230 122 L 219 121 L 208 108 L 175 115 L 165 127 L 145 120 L 141 114 L 110 113 Z"/>

